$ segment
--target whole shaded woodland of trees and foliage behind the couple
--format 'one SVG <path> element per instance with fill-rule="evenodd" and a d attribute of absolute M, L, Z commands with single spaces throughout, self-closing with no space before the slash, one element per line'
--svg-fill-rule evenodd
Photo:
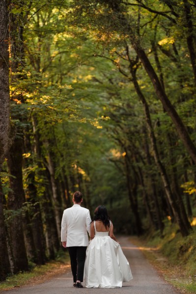
<path fill-rule="evenodd" d="M 0 280 L 55 259 L 76 190 L 117 233 L 196 218 L 196 2 L 0 1 Z"/>

